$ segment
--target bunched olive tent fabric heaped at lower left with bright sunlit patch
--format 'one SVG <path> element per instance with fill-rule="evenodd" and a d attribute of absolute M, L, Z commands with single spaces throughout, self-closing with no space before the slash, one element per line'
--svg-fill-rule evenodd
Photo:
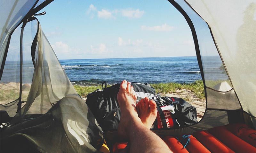
<path fill-rule="evenodd" d="M 85 113 L 87 112 L 87 113 Z M 41 152 L 96 152 L 95 142 L 103 139 L 101 129 L 84 100 L 69 94 L 46 114 L 28 118 L 1 132 L 2 139 L 26 137 Z M 91 116 L 91 117 L 89 117 Z M 11 144 L 17 147 L 19 144 Z"/>

